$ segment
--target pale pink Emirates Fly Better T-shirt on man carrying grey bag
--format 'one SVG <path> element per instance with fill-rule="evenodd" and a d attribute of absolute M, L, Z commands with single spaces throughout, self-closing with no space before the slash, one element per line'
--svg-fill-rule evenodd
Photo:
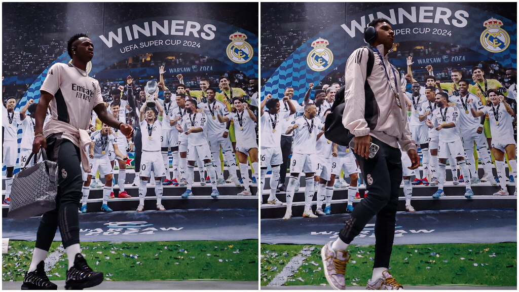
<path fill-rule="evenodd" d="M 52 116 L 44 127 L 45 136 L 86 130 L 90 112 L 104 102 L 99 82 L 72 64 L 53 64 L 40 90 L 54 96 L 50 101 Z"/>

